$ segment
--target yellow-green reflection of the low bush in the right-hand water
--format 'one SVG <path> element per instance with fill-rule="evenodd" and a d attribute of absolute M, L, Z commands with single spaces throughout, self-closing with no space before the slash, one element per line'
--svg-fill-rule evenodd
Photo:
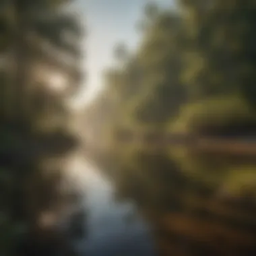
<path fill-rule="evenodd" d="M 195 181 L 231 197 L 256 196 L 255 162 L 238 158 L 225 158 L 225 156 L 212 156 L 211 154 L 198 154 L 193 148 L 172 148 L 170 158 L 176 162 L 181 172 Z"/>

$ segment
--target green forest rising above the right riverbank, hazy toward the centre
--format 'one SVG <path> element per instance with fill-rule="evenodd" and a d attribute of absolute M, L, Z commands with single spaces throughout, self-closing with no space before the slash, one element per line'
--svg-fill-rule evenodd
<path fill-rule="evenodd" d="M 86 110 L 100 141 L 120 131 L 255 135 L 255 1 L 175 3 L 146 5 L 137 49 L 113 50 L 117 65 Z"/>

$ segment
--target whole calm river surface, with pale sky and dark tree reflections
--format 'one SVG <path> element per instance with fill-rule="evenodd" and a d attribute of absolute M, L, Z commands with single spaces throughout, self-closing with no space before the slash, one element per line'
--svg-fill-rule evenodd
<path fill-rule="evenodd" d="M 122 150 L 112 172 L 82 156 L 69 170 L 87 213 L 78 255 L 256 255 L 255 159 Z"/>

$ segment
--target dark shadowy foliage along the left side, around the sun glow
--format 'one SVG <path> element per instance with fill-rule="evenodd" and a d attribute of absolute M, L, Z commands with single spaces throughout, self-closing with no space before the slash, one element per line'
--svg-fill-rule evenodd
<path fill-rule="evenodd" d="M 79 65 L 66 65 L 58 59 L 60 54 L 77 63 L 80 59 L 77 40 L 82 28 L 71 13 L 64 11 L 69 2 L 1 1 L 0 255 L 15 255 L 18 244 L 32 232 L 29 217 L 36 218 L 39 209 L 33 209 L 32 202 L 24 197 L 26 186 L 31 185 L 26 181 L 32 174 L 45 171 L 39 168 L 41 162 L 53 156 L 61 158 L 60 154 L 76 145 L 67 131 L 65 100 L 74 91 L 72 87 L 77 88 Z M 12 61 L 15 65 L 9 65 Z M 40 67 L 40 71 L 46 68 L 39 77 L 42 81 L 38 81 L 34 67 Z M 48 70 L 67 75 L 65 92 L 51 90 L 51 79 L 45 79 L 51 75 Z M 51 129 L 44 129 L 44 123 Z"/>

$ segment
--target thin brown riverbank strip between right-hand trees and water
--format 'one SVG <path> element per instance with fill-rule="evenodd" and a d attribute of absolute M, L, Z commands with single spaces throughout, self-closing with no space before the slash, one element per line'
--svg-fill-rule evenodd
<path fill-rule="evenodd" d="M 116 139 L 117 147 L 134 146 L 143 150 L 168 150 L 174 146 L 185 146 L 199 152 L 256 156 L 255 137 L 211 137 L 191 135 L 130 135 Z"/>

